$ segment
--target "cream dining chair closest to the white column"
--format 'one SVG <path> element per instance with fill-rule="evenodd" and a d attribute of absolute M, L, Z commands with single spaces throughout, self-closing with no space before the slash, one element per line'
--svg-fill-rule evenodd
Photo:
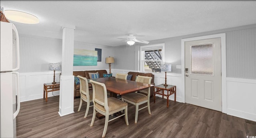
<path fill-rule="evenodd" d="M 92 90 L 89 90 L 89 86 L 88 86 L 88 80 L 85 77 L 82 76 L 77 76 L 80 80 L 80 104 L 78 107 L 78 112 L 80 111 L 81 107 L 82 107 L 82 102 L 87 102 L 87 106 L 86 106 L 86 112 L 84 115 L 84 118 L 87 117 L 89 108 L 92 107 L 93 105 L 90 106 L 90 102 L 92 102 Z"/>

